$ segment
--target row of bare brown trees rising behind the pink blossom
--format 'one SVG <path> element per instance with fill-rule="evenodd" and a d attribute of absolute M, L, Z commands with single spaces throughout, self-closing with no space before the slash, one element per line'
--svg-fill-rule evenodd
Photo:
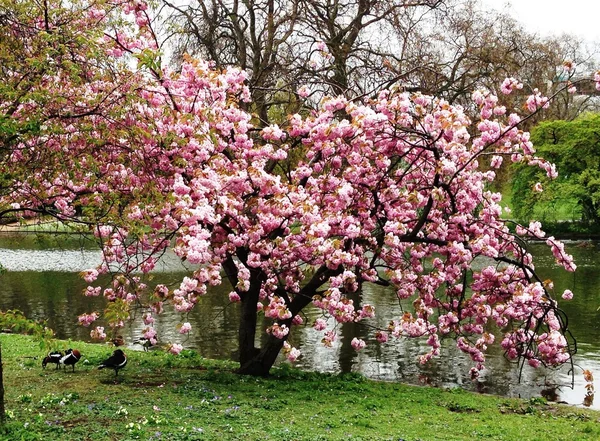
<path fill-rule="evenodd" d="M 499 93 L 498 85 L 513 76 L 525 85 L 507 101 L 513 108 L 536 87 L 551 93 L 564 86 L 565 60 L 582 75 L 594 71 L 594 47 L 568 35 L 541 38 L 508 13 L 482 10 L 477 1 L 166 4 L 174 11 L 177 56 L 189 53 L 213 60 L 217 68 L 245 70 L 262 125 L 274 121 L 273 106 L 287 103 L 295 112 L 299 91 L 318 101 L 397 84 L 466 104 L 473 90 Z M 528 124 L 572 118 L 592 104 L 564 93 Z"/>

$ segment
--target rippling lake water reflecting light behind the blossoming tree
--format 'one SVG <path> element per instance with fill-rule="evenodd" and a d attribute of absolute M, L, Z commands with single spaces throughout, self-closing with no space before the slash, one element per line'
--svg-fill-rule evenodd
<path fill-rule="evenodd" d="M 531 246 L 536 256 L 536 268 L 542 279 L 554 280 L 557 293 L 571 289 L 575 298 L 562 302 L 561 307 L 570 318 L 570 329 L 577 339 L 575 356 L 575 385 L 571 388 L 571 366 L 559 370 L 525 367 L 519 382 L 517 365 L 507 361 L 498 348 L 488 353 L 486 369 L 473 382 L 468 377 L 470 360 L 455 348 L 452 340 L 443 341 L 442 355 L 425 366 L 416 362 L 425 352 L 423 341 L 401 340 L 385 345 L 377 344 L 369 327 L 385 327 L 399 315 L 395 296 L 379 286 L 365 286 L 363 301 L 373 304 L 376 317 L 358 324 L 338 327 L 338 340 L 333 348 L 325 348 L 322 333 L 309 326 L 295 328 L 292 343 L 303 356 L 298 366 L 322 372 L 360 372 L 378 380 L 430 384 L 442 387 L 463 387 L 485 393 L 524 398 L 540 396 L 586 405 L 600 409 L 593 397 L 586 397 L 582 369 L 590 369 L 600 378 L 600 248 L 594 242 L 571 242 L 567 250 L 575 257 L 578 270 L 567 273 L 560 270 L 545 246 Z M 48 325 L 63 339 L 90 340 L 89 329 L 77 325 L 77 316 L 84 312 L 101 311 L 100 298 L 86 298 L 86 287 L 79 272 L 100 262 L 100 254 L 78 238 L 40 239 L 34 235 L 0 236 L 0 264 L 7 270 L 0 276 L 0 309 L 20 309 L 28 317 L 47 319 Z M 177 283 L 185 268 L 174 256 L 167 255 L 153 275 L 154 283 Z M 230 304 L 224 284 L 202 297 L 188 316 L 167 311 L 156 323 L 162 341 L 179 342 L 186 348 L 197 349 L 210 358 L 231 358 L 237 348 L 239 310 Z M 312 323 L 318 311 L 308 309 L 305 322 Z M 193 332 L 188 338 L 176 331 L 177 323 L 189 321 Z M 139 338 L 144 328 L 139 318 L 123 331 L 128 342 Z M 354 337 L 367 341 L 361 352 L 352 349 Z M 133 349 L 141 349 L 132 346 Z M 283 362 L 283 361 L 282 361 Z M 556 387 L 555 387 L 556 386 Z M 596 389 L 600 382 L 596 381 Z M 600 401 L 600 400 L 598 400 Z"/>

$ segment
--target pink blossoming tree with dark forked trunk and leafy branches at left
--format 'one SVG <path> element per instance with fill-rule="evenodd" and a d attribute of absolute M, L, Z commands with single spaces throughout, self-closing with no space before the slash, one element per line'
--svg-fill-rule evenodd
<path fill-rule="evenodd" d="M 86 295 L 107 304 L 93 336 L 141 315 L 153 340 L 165 307 L 185 317 L 211 286 L 229 283 L 242 311 L 240 372 L 266 374 L 280 351 L 300 355 L 287 341 L 295 326 L 313 326 L 330 345 L 340 323 L 375 314 L 349 297 L 376 283 L 413 305 L 376 330 L 377 340 L 424 338 L 430 350 L 421 362 L 438 355 L 446 337 L 469 354 L 474 376 L 494 343 L 532 366 L 569 359 L 552 285 L 536 275 L 523 245 L 544 233 L 537 223 L 512 233 L 501 196 L 487 189 L 495 179 L 482 167 L 489 157 L 494 167 L 508 157 L 556 175 L 505 98 L 475 90 L 471 120 L 445 99 L 391 87 L 359 99 L 325 96 L 313 112 L 263 126 L 246 110 L 244 71 L 189 56 L 177 70 L 162 64 L 146 3 L 27 5 L 8 24 L 23 25 L 14 32 L 26 50 L 62 35 L 61 26 L 75 33 L 74 46 L 33 53 L 54 70 L 31 77 L 27 99 L 1 97 L 10 125 L 40 116 L 36 130 L 3 142 L 0 171 L 10 191 L 0 202 L 5 213 L 89 226 L 104 259 L 84 275 Z M 28 72 L 16 63 L 5 75 L 21 79 L 18 89 Z M 501 89 L 508 97 L 521 87 L 508 78 Z M 547 105 L 539 92 L 527 100 L 533 114 Z M 574 271 L 564 246 L 546 240 Z M 149 275 L 171 247 L 191 265 L 189 276 L 154 286 Z M 108 285 L 98 282 L 106 273 Z M 304 324 L 311 305 L 322 317 Z M 268 321 L 260 348 L 258 314 Z M 503 331 L 500 342 L 492 323 Z M 357 350 L 364 345 L 353 341 Z"/>

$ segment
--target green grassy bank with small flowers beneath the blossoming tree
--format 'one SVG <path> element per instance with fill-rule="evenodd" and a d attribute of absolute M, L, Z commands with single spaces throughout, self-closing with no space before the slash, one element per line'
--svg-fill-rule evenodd
<path fill-rule="evenodd" d="M 36 343 L 0 335 L 10 419 L 5 440 L 598 440 L 600 413 L 284 368 L 240 377 L 227 362 L 127 351 L 114 380 L 95 366 L 112 351 L 64 343 L 74 373 L 41 368 Z M 30 358 L 37 356 L 37 359 Z"/>

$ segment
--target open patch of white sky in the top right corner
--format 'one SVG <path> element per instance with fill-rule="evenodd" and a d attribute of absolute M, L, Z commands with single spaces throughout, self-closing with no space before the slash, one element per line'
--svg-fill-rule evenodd
<path fill-rule="evenodd" d="M 600 0 L 481 0 L 481 3 L 484 7 L 508 11 L 540 36 L 566 32 L 600 43 Z"/>

